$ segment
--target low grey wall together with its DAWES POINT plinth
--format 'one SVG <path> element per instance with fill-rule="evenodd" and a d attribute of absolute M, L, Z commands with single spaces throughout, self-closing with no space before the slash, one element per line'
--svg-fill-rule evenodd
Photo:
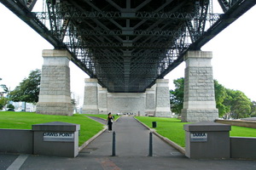
<path fill-rule="evenodd" d="M 0 152 L 76 157 L 79 130 L 79 124 L 67 122 L 32 125 L 32 130 L 0 129 Z"/>

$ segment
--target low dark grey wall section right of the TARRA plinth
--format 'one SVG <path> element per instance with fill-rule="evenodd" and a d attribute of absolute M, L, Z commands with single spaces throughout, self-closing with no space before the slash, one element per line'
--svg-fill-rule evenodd
<path fill-rule="evenodd" d="M 256 138 L 230 137 L 230 157 L 256 159 Z"/>

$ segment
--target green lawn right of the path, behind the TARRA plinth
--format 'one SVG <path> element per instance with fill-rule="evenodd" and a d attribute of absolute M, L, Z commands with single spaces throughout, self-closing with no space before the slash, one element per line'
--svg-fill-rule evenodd
<path fill-rule="evenodd" d="M 148 127 L 152 127 L 152 122 L 157 122 L 155 128 L 157 133 L 172 140 L 176 144 L 185 147 L 185 131 L 183 125 L 188 122 L 181 122 L 177 118 L 147 117 L 137 116 L 137 120 L 143 122 Z M 232 126 L 230 136 L 236 137 L 256 137 L 256 128 Z"/>

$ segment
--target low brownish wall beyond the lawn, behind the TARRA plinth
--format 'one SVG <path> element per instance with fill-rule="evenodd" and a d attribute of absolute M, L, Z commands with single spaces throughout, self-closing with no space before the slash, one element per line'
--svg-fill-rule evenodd
<path fill-rule="evenodd" d="M 229 124 L 231 126 L 256 128 L 256 122 L 253 122 L 253 121 L 241 121 L 241 120 L 234 121 L 234 120 L 218 120 L 218 119 L 216 119 L 214 122 Z"/>

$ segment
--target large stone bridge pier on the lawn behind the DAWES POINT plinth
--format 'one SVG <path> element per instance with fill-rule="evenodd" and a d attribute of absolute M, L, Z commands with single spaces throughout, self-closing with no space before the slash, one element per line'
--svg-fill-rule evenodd
<path fill-rule="evenodd" d="M 70 97 L 71 54 L 67 50 L 44 49 L 37 113 L 73 115 Z"/>

